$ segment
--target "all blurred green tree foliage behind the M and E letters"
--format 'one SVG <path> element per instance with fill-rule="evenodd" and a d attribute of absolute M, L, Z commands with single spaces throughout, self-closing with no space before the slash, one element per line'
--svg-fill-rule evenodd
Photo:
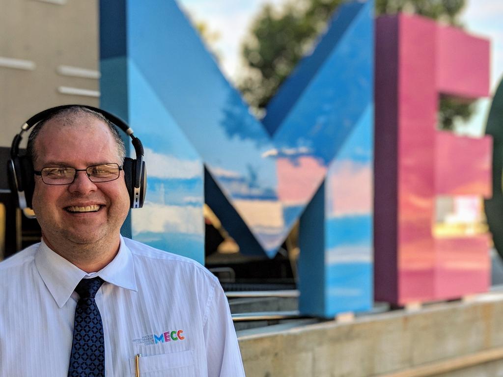
<path fill-rule="evenodd" d="M 286 0 L 280 9 L 265 5 L 251 24 L 242 45 L 245 63 L 238 87 L 260 114 L 299 60 L 312 49 L 333 11 L 344 0 Z M 409 12 L 461 26 L 465 0 L 376 0 L 376 14 Z M 468 119 L 471 107 L 449 97 L 440 99 L 440 128 L 452 129 L 454 119 Z"/>

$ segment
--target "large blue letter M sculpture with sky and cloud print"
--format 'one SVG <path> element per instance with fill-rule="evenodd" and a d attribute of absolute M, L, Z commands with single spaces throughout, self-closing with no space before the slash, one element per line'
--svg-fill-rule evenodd
<path fill-rule="evenodd" d="M 265 252 L 273 257 L 327 174 L 336 180 L 348 179 L 352 185 L 366 184 L 364 202 L 368 202 L 373 156 L 373 2 L 354 2 L 341 7 L 316 50 L 285 84 L 293 87 L 290 95 L 282 95 L 280 91 L 278 101 L 284 105 L 277 108 L 272 105 L 270 122 L 266 120 L 268 129 L 251 115 L 175 2 L 154 0 L 145 7 L 132 0 L 102 1 L 101 8 L 106 17 L 101 23 L 105 28 L 102 38 L 108 40 L 102 43 L 102 51 L 114 51 L 102 54 L 104 82 L 112 80 L 113 74 L 121 69 L 127 71 L 127 80 L 122 86 L 102 85 L 104 97 L 109 99 L 104 101 L 105 108 L 113 110 L 110 99 L 120 90 L 118 97 L 128 104 L 131 113 L 128 118 L 134 122 L 134 128 L 148 134 L 153 123 L 164 135 L 168 132 L 175 135 L 176 142 L 168 144 L 169 137 L 156 131 L 144 142 L 152 149 L 150 158 L 159 161 L 160 166 L 169 166 L 170 158 L 174 157 L 171 148 L 179 140 L 187 146 L 188 139 L 207 169 L 205 200 L 238 242 L 241 252 Z M 117 22 L 113 9 L 122 9 L 123 22 Z M 114 26 L 107 26 L 108 23 Z M 116 30 L 110 31 L 107 27 Z M 113 45 L 117 35 L 124 36 L 127 48 L 121 50 Z M 120 38 L 118 44 L 121 44 Z M 151 111 L 157 116 L 148 117 Z M 363 139 L 354 140 L 355 134 Z M 190 151 L 187 154 L 176 149 L 180 152 L 179 158 L 197 165 L 199 159 L 193 149 L 187 149 Z M 364 157 L 355 160 L 353 155 L 358 151 Z M 332 161 L 335 161 L 333 167 Z M 200 175 L 195 173 L 194 177 L 200 182 Z M 151 182 L 149 180 L 150 185 L 156 184 Z M 158 187 L 157 198 L 171 198 L 171 194 L 161 195 L 161 185 Z M 327 203 L 337 202 L 333 196 L 339 193 L 340 183 L 334 184 L 329 179 L 326 187 Z M 190 195 L 197 198 L 197 206 L 201 203 L 198 193 L 196 190 Z M 181 195 L 181 199 L 186 200 L 187 195 Z M 150 193 L 147 200 L 152 200 Z M 353 202 L 357 200 L 353 198 Z M 155 206 L 164 205 L 160 199 L 155 203 Z M 177 205 L 188 214 L 183 201 Z M 358 302 L 354 310 L 371 306 L 371 206 L 355 210 L 357 216 L 362 216 L 361 221 L 351 218 L 354 211 L 351 206 L 342 207 L 327 205 L 327 221 L 318 224 L 327 242 L 316 257 L 325 264 L 324 259 L 329 255 L 328 275 L 320 275 L 321 287 L 318 283 L 302 287 L 305 295 L 322 289 L 322 296 L 331 304 L 305 310 L 325 316 L 338 311 L 333 302 L 347 298 L 338 296 L 337 292 L 352 292 L 354 297 L 347 302 Z M 165 210 L 162 216 L 168 219 L 169 211 Z M 317 211 L 324 213 L 325 205 Z M 135 222 L 134 216 L 143 215 L 133 214 L 133 236 L 135 229 L 143 226 Z M 153 218 L 148 214 L 141 222 L 153 223 Z M 190 216 L 182 219 L 188 227 L 194 221 Z M 166 220 L 165 224 L 170 229 L 170 221 Z M 360 228 L 362 224 L 364 229 Z M 351 236 L 342 231 L 349 228 Z M 169 237 L 165 235 L 164 242 Z M 308 241 L 306 247 L 310 248 L 318 239 L 308 238 Z M 302 252 L 307 254 L 309 250 Z M 355 280 L 358 287 L 349 289 L 349 280 L 346 280 L 338 291 L 336 275 L 340 269 L 334 266 L 353 259 L 363 265 L 359 272 L 361 279 Z"/>

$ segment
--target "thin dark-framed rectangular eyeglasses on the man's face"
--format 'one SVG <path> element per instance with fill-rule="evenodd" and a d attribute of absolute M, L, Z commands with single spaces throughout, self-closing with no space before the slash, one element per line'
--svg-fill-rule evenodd
<path fill-rule="evenodd" d="M 70 184 L 73 183 L 77 171 L 85 171 L 91 182 L 108 182 L 119 178 L 122 166 L 116 163 L 88 166 L 85 169 L 75 169 L 68 166 L 44 167 L 35 170 L 35 175 L 40 175 L 46 184 Z"/>

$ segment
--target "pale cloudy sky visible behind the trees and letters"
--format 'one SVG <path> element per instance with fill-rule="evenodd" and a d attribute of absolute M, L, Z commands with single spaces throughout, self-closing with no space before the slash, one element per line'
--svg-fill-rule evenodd
<path fill-rule="evenodd" d="M 230 81 L 240 71 L 240 46 L 254 16 L 266 3 L 280 5 L 285 0 L 178 0 L 178 4 L 196 21 L 204 21 L 219 37 L 213 48 L 221 69 Z M 465 30 L 491 41 L 490 95 L 503 78 L 503 1 L 467 0 L 461 15 Z M 481 136 L 489 111 L 490 100 L 477 101 L 476 110 L 467 124 L 458 124 L 462 133 Z"/>

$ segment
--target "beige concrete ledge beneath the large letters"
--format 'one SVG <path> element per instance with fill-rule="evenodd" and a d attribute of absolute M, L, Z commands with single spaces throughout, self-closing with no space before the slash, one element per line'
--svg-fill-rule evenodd
<path fill-rule="evenodd" d="M 351 323 L 261 331 L 238 332 L 247 377 L 436 375 L 431 371 L 436 366 L 443 373 L 437 375 L 489 377 L 503 369 L 497 361 L 503 347 L 503 292 L 414 312 L 357 317 Z M 447 364 L 455 367 L 445 369 Z M 468 368 L 476 373 L 466 374 Z M 410 374 L 414 370 L 430 374 Z"/>

